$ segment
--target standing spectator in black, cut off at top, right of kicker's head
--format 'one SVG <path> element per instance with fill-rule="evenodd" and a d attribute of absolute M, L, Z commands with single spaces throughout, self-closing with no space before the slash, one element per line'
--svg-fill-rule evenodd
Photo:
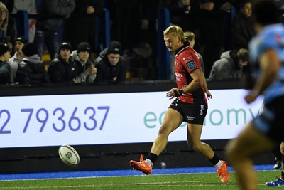
<path fill-rule="evenodd" d="M 214 61 L 218 60 L 224 46 L 224 16 L 230 14 L 228 0 L 198 0 L 200 53 L 204 58 L 204 74 L 209 77 Z"/>

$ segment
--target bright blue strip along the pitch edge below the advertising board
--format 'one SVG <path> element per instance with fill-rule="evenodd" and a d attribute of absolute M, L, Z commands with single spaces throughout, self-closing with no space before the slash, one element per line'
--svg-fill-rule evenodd
<path fill-rule="evenodd" d="M 273 165 L 255 166 L 257 171 L 273 170 Z M 231 167 L 229 171 L 233 171 Z M 153 175 L 159 174 L 194 174 L 216 172 L 214 167 L 189 167 L 189 168 L 168 168 L 153 169 Z M 60 179 L 76 177 L 97 177 L 97 176 L 134 176 L 143 175 L 141 171 L 134 169 L 124 170 L 99 170 L 99 171 L 64 171 L 64 172 L 45 172 L 45 173 L 27 173 L 27 174 L 0 174 L 0 181 L 4 180 L 22 180 L 22 179 Z"/>

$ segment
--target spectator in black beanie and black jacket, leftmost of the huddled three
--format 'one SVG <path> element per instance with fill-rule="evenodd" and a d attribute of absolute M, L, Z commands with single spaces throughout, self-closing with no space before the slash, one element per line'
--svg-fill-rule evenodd
<path fill-rule="evenodd" d="M 77 64 L 71 56 L 72 47 L 70 43 L 63 42 L 60 45 L 59 53 L 50 62 L 48 75 L 51 83 L 73 84 L 77 77 Z"/>

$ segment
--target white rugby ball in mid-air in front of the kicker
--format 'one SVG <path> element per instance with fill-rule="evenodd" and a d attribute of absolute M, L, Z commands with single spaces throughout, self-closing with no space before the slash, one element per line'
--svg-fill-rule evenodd
<path fill-rule="evenodd" d="M 60 159 L 69 166 L 77 166 L 80 163 L 78 152 L 69 145 L 62 145 L 58 149 Z"/>

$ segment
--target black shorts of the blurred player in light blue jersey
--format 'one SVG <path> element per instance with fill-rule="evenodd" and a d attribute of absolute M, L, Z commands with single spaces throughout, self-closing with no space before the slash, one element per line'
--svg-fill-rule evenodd
<path fill-rule="evenodd" d="M 253 119 L 256 130 L 276 142 L 284 139 L 284 96 L 264 102 L 263 110 Z"/>

